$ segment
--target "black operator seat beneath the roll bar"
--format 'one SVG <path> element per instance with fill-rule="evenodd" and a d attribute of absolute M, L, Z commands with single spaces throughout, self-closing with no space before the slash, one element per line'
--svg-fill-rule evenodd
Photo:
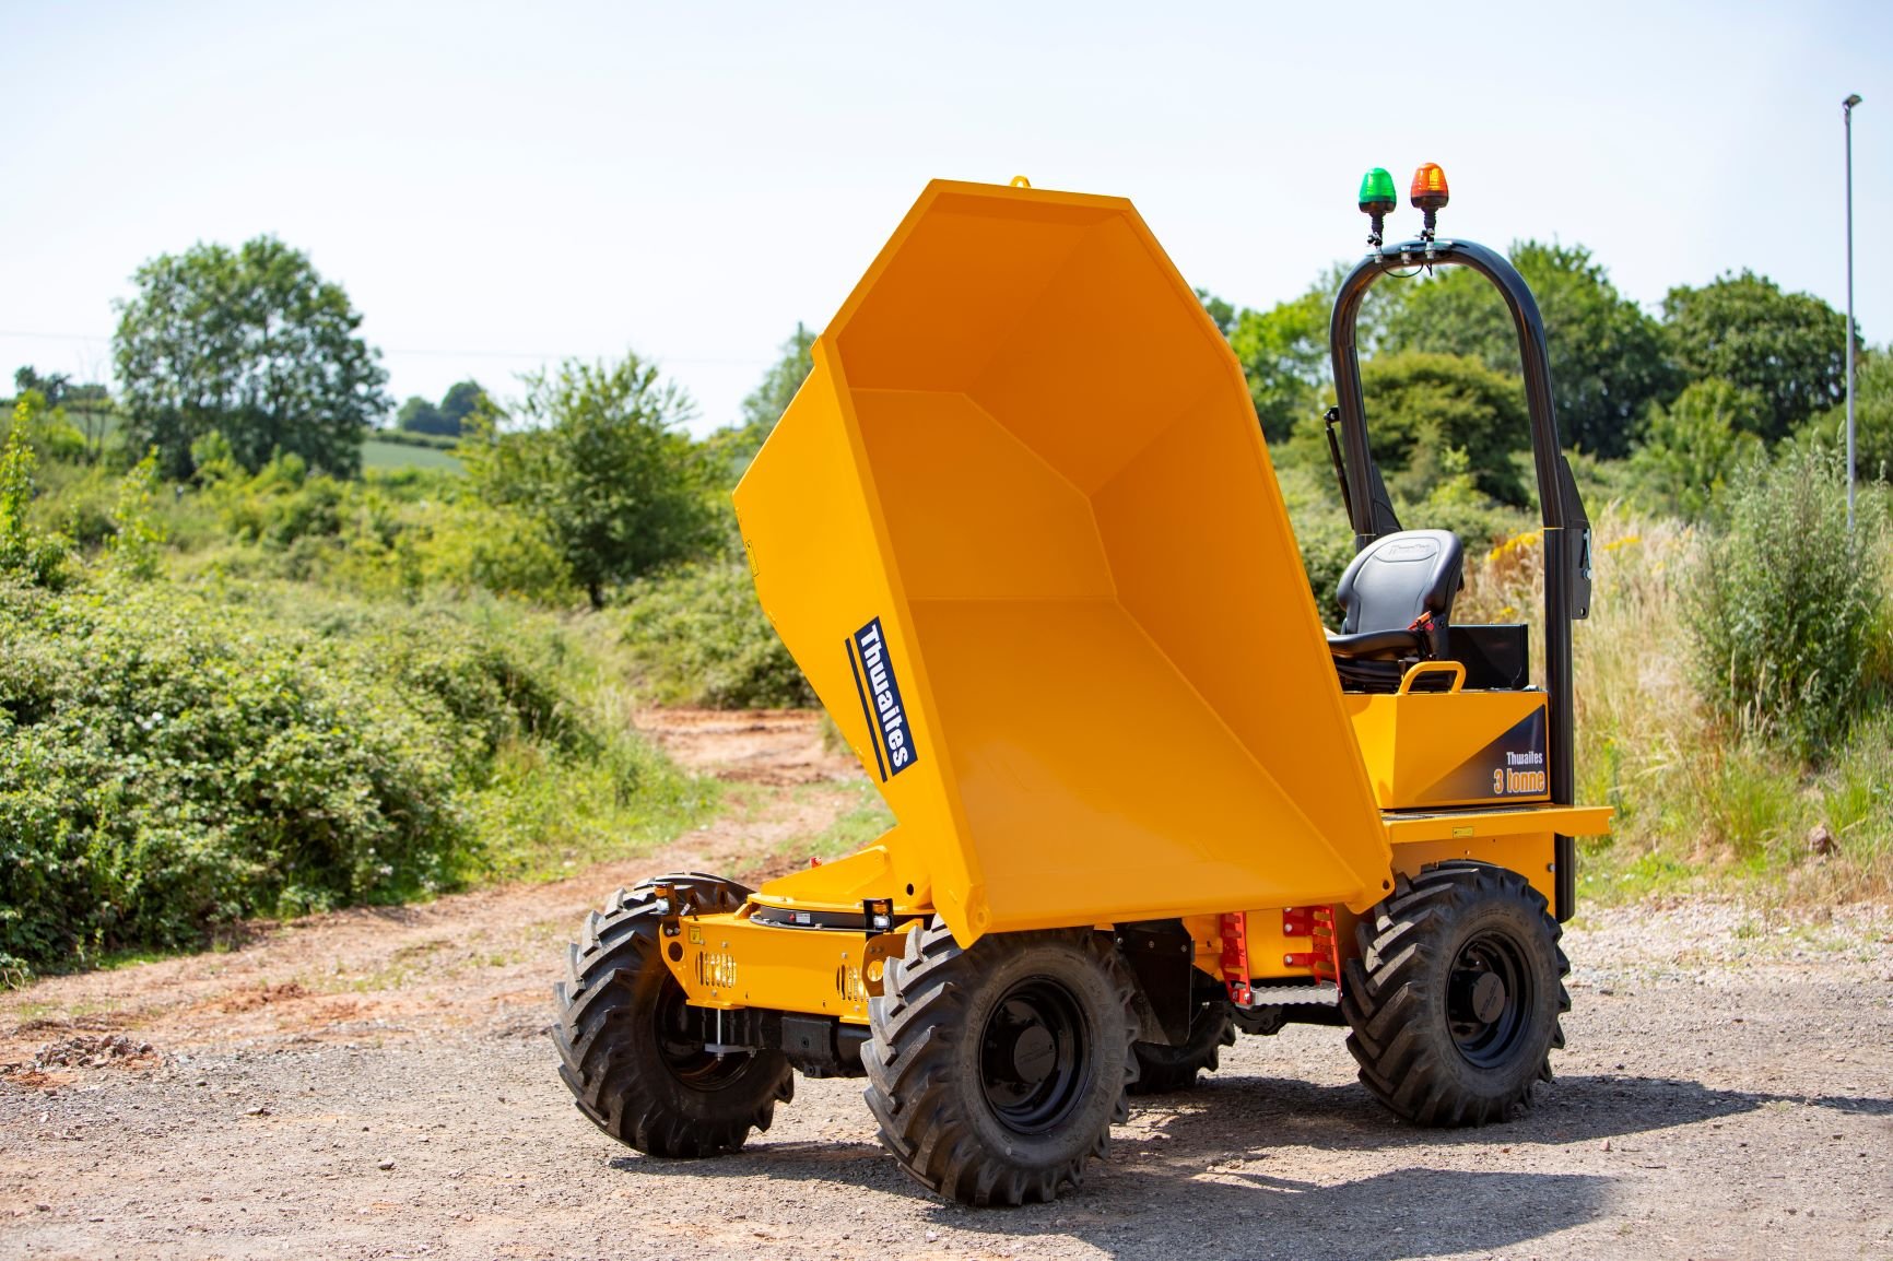
<path fill-rule="evenodd" d="M 1444 661 L 1463 562 L 1452 530 L 1399 530 L 1363 547 L 1336 589 L 1346 610 L 1340 634 L 1327 638 L 1342 680 L 1350 682 L 1350 663 Z"/>

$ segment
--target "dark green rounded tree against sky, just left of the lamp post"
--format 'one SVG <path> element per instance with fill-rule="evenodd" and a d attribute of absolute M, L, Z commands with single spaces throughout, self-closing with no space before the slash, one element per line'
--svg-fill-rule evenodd
<path fill-rule="evenodd" d="M 1768 441 L 1832 407 L 1848 388 L 1848 320 L 1812 293 L 1753 271 L 1662 301 L 1670 350 L 1692 377 L 1721 377 L 1768 401 Z"/>

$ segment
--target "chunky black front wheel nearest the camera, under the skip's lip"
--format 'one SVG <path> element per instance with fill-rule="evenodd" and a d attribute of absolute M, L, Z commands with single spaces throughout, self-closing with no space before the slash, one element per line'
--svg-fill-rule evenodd
<path fill-rule="evenodd" d="M 1130 1115 L 1134 981 L 1088 930 L 907 933 L 861 1051 L 867 1106 L 901 1168 L 962 1204 L 1049 1202 Z"/>

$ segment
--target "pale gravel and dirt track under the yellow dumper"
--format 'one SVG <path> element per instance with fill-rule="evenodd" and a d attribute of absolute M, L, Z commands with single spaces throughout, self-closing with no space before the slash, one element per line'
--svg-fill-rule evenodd
<path fill-rule="evenodd" d="M 1478 1132 L 1397 1125 L 1338 1030 L 1291 1028 L 1145 1102 L 1053 1206 L 918 1191 L 852 1081 L 801 1081 L 740 1157 L 627 1151 L 553 1072 L 562 941 L 619 882 L 780 863 L 848 799 L 833 759 L 770 769 L 806 723 L 733 757 L 683 725 L 693 765 L 797 788 L 560 884 L 0 996 L 0 1255 L 1893 1257 L 1887 909 L 1586 916 L 1560 1077 Z"/>

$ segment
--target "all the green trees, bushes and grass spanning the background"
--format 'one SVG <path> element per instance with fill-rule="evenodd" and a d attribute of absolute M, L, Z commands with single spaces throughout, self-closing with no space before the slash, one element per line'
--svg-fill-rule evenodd
<path fill-rule="evenodd" d="M 1513 256 L 1598 526 L 1579 771 L 1619 822 L 1586 894 L 1885 896 L 1893 356 L 1863 348 L 1849 530 L 1842 316 L 1749 273 L 1651 314 L 1583 248 Z M 1321 432 L 1333 284 L 1266 311 L 1204 295 L 1325 615 L 1352 557 Z M 704 439 L 636 354 L 513 400 L 458 382 L 373 428 L 384 375 L 305 256 L 197 246 L 138 286 L 115 396 L 23 369 L 0 417 L 0 969 L 553 875 L 717 808 L 636 704 L 812 702 L 727 496 L 808 329 Z M 1460 617 L 1531 621 L 1505 312 L 1469 275 L 1380 286 L 1363 348 L 1401 519 L 1467 543 Z"/>

